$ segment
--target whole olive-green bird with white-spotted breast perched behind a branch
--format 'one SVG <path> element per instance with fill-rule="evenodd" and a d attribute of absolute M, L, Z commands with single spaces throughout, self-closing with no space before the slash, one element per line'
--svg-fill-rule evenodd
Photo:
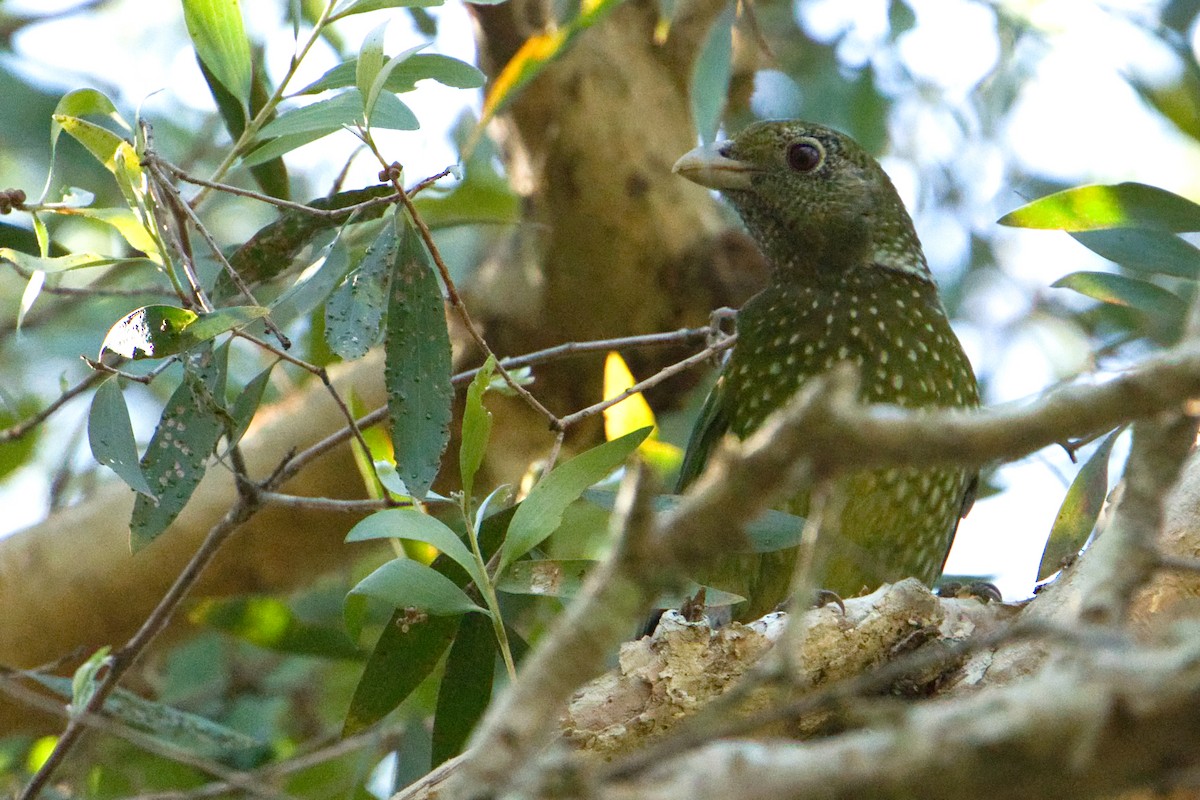
<path fill-rule="evenodd" d="M 763 122 L 689 152 L 676 172 L 720 190 L 772 265 L 769 285 L 738 312 L 738 342 L 692 432 L 680 488 L 722 435 L 745 438 L 840 362 L 859 368 L 865 402 L 978 405 L 912 219 L 856 142 L 809 122 Z M 931 584 L 973 485 L 949 468 L 846 476 L 818 585 L 850 597 L 910 576 Z M 805 492 L 781 509 L 804 516 L 808 505 Z M 733 555 L 701 579 L 748 597 L 736 615 L 754 619 L 787 596 L 794 560 L 794 551 Z"/>

